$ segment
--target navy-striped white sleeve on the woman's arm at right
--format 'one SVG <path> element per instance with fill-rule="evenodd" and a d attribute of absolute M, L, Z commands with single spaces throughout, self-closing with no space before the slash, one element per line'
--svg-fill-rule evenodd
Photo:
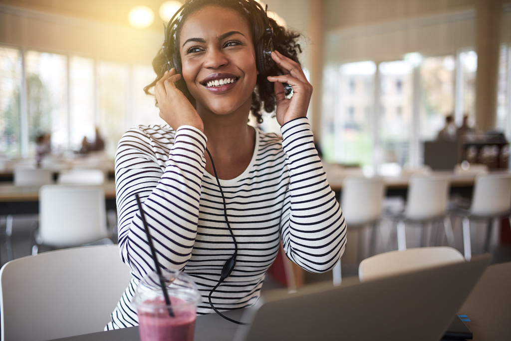
<path fill-rule="evenodd" d="M 289 169 L 281 238 L 289 259 L 311 272 L 328 271 L 346 245 L 346 224 L 314 146 L 307 118 L 281 127 Z"/>

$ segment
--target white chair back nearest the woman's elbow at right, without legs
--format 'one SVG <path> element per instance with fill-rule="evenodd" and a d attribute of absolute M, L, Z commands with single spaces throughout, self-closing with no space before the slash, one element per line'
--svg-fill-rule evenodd
<path fill-rule="evenodd" d="M 364 225 L 380 218 L 385 195 L 382 178 L 347 176 L 342 181 L 341 209 L 347 226 Z"/>

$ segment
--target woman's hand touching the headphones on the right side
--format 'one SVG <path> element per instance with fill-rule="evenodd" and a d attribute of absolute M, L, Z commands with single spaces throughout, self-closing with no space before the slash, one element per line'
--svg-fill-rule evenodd
<path fill-rule="evenodd" d="M 276 118 L 281 126 L 285 123 L 307 116 L 307 109 L 312 96 L 312 85 L 301 70 L 300 64 L 289 59 L 277 51 L 271 53 L 284 75 L 268 76 L 268 80 L 274 83 L 275 95 L 277 98 Z M 293 87 L 293 96 L 288 99 L 284 93 L 283 83 Z"/>

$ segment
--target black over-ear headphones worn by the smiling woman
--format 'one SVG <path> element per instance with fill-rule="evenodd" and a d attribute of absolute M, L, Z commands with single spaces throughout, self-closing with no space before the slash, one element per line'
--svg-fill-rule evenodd
<path fill-rule="evenodd" d="M 255 44 L 255 65 L 257 66 L 257 70 L 259 74 L 262 76 L 270 76 L 275 74 L 275 62 L 271 58 L 271 52 L 273 51 L 273 28 L 270 25 L 268 20 L 268 15 L 266 13 L 268 9 L 268 5 L 266 5 L 266 9 L 261 6 L 258 2 L 254 0 L 240 0 L 238 3 L 243 7 L 244 11 L 251 15 L 251 8 L 255 10 L 260 10 L 263 13 L 264 19 L 264 32 L 263 38 Z M 165 58 L 167 59 L 167 63 L 161 69 L 161 75 L 163 76 L 165 71 L 170 71 L 172 67 L 176 70 L 176 73 L 180 74 L 181 70 L 181 60 L 180 56 L 174 51 L 172 51 L 171 45 L 175 43 L 176 32 L 175 29 L 178 25 L 178 22 L 181 20 L 182 15 L 180 13 L 183 11 L 184 5 L 179 8 L 179 10 L 172 16 L 169 21 L 167 27 L 165 27 L 165 40 L 163 46 L 161 47 L 161 51 Z M 172 35 L 172 36 L 171 36 Z M 169 55 L 172 55 L 172 61 L 169 59 Z"/>

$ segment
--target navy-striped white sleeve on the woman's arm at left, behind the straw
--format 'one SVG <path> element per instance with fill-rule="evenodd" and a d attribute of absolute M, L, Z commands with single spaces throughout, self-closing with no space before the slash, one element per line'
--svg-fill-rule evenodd
<path fill-rule="evenodd" d="M 165 169 L 158 163 L 161 144 L 172 144 Z M 135 278 L 155 268 L 135 194 L 143 202 L 160 266 L 182 269 L 197 235 L 205 147 L 205 135 L 191 126 L 179 127 L 174 141 L 140 127 L 130 129 L 119 142 L 115 156 L 119 247 Z"/>

